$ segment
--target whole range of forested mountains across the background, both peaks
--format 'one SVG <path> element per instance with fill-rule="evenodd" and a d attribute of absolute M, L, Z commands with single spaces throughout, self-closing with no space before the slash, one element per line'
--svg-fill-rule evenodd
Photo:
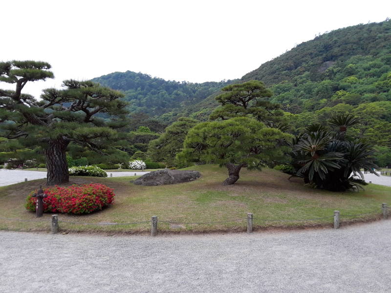
<path fill-rule="evenodd" d="M 215 96 L 221 87 L 253 79 L 272 89 L 271 102 L 281 104 L 294 133 L 309 123 L 324 124 L 336 113 L 350 112 L 362 119 L 360 125 L 351 128 L 350 135 L 391 146 L 389 20 L 317 36 L 236 81 L 192 84 L 131 71 L 94 81 L 124 90 L 131 112 L 138 112 L 133 115 L 146 113 L 167 125 L 180 116 L 207 120 L 218 105 Z M 137 121 L 142 123 L 142 119 Z"/>

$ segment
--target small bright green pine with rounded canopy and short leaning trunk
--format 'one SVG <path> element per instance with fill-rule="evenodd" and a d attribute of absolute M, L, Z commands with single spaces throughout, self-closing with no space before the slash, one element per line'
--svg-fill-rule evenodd
<path fill-rule="evenodd" d="M 218 163 L 229 177 L 223 185 L 234 184 L 242 167 L 257 168 L 285 160 L 291 135 L 248 117 L 204 122 L 186 136 L 178 158 L 184 161 Z"/>

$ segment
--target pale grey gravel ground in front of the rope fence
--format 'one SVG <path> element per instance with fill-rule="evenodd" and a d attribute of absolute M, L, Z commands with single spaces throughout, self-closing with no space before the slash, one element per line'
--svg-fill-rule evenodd
<path fill-rule="evenodd" d="M 386 293 L 391 220 L 251 235 L 0 231 L 0 276 L 1 293 Z"/>

